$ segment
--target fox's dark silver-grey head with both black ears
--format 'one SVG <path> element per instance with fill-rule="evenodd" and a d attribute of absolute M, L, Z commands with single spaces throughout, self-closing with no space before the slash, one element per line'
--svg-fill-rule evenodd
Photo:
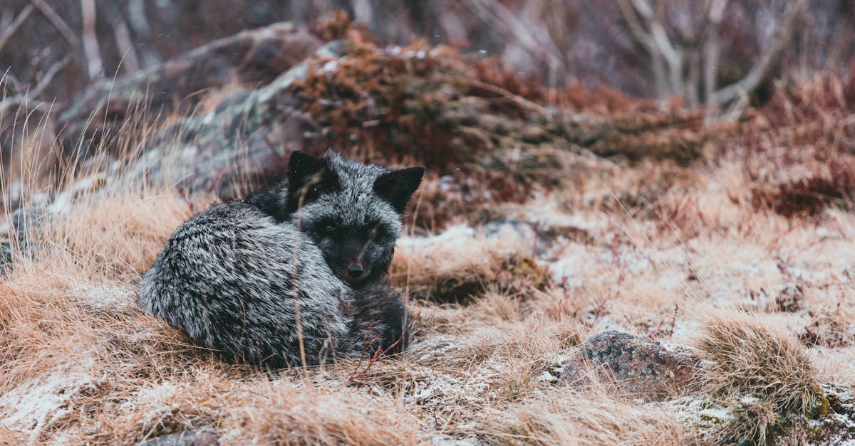
<path fill-rule="evenodd" d="M 321 249 L 333 273 L 352 287 L 368 285 L 389 269 L 401 215 L 424 170 L 388 170 L 333 151 L 321 158 L 295 151 L 288 161 L 286 214 Z"/>

